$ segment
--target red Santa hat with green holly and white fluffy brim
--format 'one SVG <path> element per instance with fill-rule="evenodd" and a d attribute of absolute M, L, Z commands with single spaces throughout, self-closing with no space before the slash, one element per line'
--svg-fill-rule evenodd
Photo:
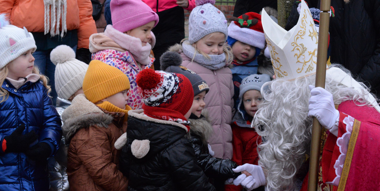
<path fill-rule="evenodd" d="M 236 41 L 244 42 L 259 49 L 265 47 L 265 36 L 261 15 L 254 12 L 242 14 L 239 17 L 231 17 L 228 26 L 227 42 L 232 47 Z"/>

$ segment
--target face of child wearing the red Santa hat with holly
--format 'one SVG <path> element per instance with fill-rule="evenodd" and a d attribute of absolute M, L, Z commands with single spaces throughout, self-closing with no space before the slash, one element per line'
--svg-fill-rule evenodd
<path fill-rule="evenodd" d="M 236 41 L 232 45 L 232 53 L 234 54 L 234 58 L 240 61 L 249 61 L 256 54 L 256 48 L 245 44 L 244 42 Z"/>

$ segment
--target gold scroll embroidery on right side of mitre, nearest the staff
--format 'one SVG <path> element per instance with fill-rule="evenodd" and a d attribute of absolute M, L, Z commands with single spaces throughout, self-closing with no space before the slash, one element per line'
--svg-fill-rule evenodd
<path fill-rule="evenodd" d="M 304 70 L 304 67 L 308 64 L 309 65 L 307 66 L 305 73 L 313 71 L 314 64 L 317 64 L 317 49 L 307 51 L 307 47 L 304 44 L 298 43 L 298 40 L 304 39 L 304 36 L 306 35 L 306 24 L 308 23 L 306 20 L 306 10 L 309 16 L 312 17 L 309 9 L 304 9 L 304 14 L 302 14 L 303 16 L 301 18 L 301 25 L 299 26 L 301 29 L 297 32 L 296 36 L 294 36 L 294 41 L 291 43 L 291 45 L 293 46 L 293 50 L 291 50 L 291 52 L 297 51 L 296 53 L 294 53 L 294 57 L 297 58 L 296 63 L 302 64 L 301 68 L 298 67 L 297 73 L 301 73 Z M 312 41 L 314 41 L 315 37 L 315 44 L 318 44 L 318 33 L 317 31 L 315 31 L 314 23 L 311 22 L 309 26 L 313 29 L 313 32 L 309 30 L 310 34 L 308 36 L 312 39 Z M 308 52 L 308 55 L 305 54 L 306 51 Z"/>

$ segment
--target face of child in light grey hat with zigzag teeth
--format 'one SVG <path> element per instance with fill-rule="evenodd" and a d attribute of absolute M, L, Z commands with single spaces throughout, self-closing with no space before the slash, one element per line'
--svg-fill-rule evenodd
<path fill-rule="evenodd" d="M 263 97 L 261 93 L 255 89 L 246 91 L 243 95 L 244 110 L 251 117 L 255 116 L 261 102 L 263 102 Z"/>

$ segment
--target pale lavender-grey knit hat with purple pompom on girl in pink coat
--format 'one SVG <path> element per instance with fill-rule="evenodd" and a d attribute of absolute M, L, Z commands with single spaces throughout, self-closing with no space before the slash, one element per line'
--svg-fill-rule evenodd
<path fill-rule="evenodd" d="M 195 4 L 189 17 L 188 42 L 193 44 L 214 32 L 224 33 L 227 40 L 227 20 L 222 11 L 214 6 L 215 0 L 196 0 Z"/>

